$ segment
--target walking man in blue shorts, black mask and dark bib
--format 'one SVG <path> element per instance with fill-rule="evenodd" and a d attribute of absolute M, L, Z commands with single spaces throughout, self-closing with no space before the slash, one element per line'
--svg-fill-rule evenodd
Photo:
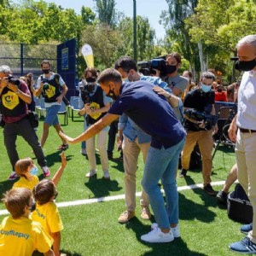
<path fill-rule="evenodd" d="M 62 131 L 61 125 L 58 119 L 58 112 L 61 108 L 61 102 L 63 97 L 67 94 L 67 85 L 61 79 L 59 74 L 50 72 L 49 61 L 42 61 L 41 63 L 43 75 L 39 76 L 37 83 L 37 90 L 35 95 L 40 96 L 42 93 L 45 97 L 46 118 L 44 119 L 44 131 L 41 137 L 41 146 L 44 147 L 44 143 L 49 135 L 49 126 L 53 125 L 57 134 Z M 67 142 L 61 138 L 62 144 L 58 150 L 65 150 L 68 148 Z"/>

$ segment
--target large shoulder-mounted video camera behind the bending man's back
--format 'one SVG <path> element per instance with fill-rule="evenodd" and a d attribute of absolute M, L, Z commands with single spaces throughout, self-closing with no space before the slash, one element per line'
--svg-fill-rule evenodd
<path fill-rule="evenodd" d="M 143 75 L 154 74 L 154 69 L 157 69 L 160 76 L 166 76 L 166 56 L 156 57 L 152 61 L 139 61 L 137 66 Z"/>

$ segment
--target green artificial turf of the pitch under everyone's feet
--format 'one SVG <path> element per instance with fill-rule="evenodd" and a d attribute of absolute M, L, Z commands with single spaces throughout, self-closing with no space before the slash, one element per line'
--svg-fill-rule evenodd
<path fill-rule="evenodd" d="M 63 123 L 63 116 L 59 117 Z M 76 118 L 62 126 L 68 136 L 76 137 L 83 131 L 82 119 Z M 40 121 L 38 137 L 41 137 L 43 121 Z M 0 130 L 0 193 L 10 189 L 14 182 L 7 181 L 12 171 L 6 149 L 3 145 L 3 130 Z M 49 138 L 44 146 L 52 177 L 61 164 L 61 144 L 55 129 L 50 128 Z M 32 157 L 30 148 L 22 138 L 17 139 L 17 149 L 22 157 Z M 56 202 L 78 201 L 112 195 L 124 195 L 124 168 L 119 160 L 119 152 L 114 151 L 114 160 L 110 160 L 110 180 L 102 178 L 99 156 L 97 158 L 97 177 L 86 178 L 89 171 L 88 160 L 80 154 L 80 144 L 70 145 L 65 152 L 67 168 L 58 184 L 59 195 Z M 236 161 L 234 149 L 220 145 L 213 160 L 212 181 L 223 181 Z M 35 160 L 36 162 L 36 160 Z M 137 191 L 141 191 L 143 160 L 140 156 L 137 169 Z M 39 170 L 39 178 L 43 178 Z M 177 177 L 177 186 L 202 183 L 200 170 L 188 172 L 186 179 Z M 221 185 L 214 189 L 221 189 Z M 234 186 L 231 188 L 234 189 Z M 137 206 L 139 198 L 137 197 Z M 0 204 L 0 210 L 4 206 Z M 167 244 L 147 244 L 140 236 L 150 230 L 154 221 L 137 217 L 128 224 L 119 224 L 119 214 L 125 211 L 125 201 L 104 201 L 79 206 L 60 207 L 64 230 L 61 232 L 61 252 L 67 255 L 236 255 L 230 252 L 230 242 L 239 241 L 243 235 L 240 225 L 227 216 L 225 207 L 218 205 L 216 198 L 206 195 L 202 189 L 186 189 L 179 192 L 180 228 L 182 238 Z M 4 218 L 0 216 L 0 221 Z"/>

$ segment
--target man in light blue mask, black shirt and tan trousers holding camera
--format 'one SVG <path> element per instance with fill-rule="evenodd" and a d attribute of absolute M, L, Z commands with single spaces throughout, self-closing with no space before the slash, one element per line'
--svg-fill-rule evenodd
<path fill-rule="evenodd" d="M 182 153 L 182 171 L 179 174 L 179 177 L 186 177 L 189 170 L 190 155 L 195 144 L 198 143 L 202 156 L 204 190 L 208 195 L 217 194 L 211 185 L 212 133 L 218 131 L 214 108 L 214 91 L 211 90 L 214 80 L 213 73 L 202 73 L 198 89 L 189 91 L 184 98 L 184 127 L 187 131 L 187 137 Z"/>

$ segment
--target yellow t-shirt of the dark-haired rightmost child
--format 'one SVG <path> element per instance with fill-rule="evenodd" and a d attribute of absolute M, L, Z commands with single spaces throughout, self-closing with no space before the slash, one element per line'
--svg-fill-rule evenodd
<path fill-rule="evenodd" d="M 60 212 L 55 202 L 49 201 L 44 205 L 38 205 L 32 212 L 32 220 L 42 224 L 44 230 L 51 236 L 52 233 L 63 230 Z"/>

